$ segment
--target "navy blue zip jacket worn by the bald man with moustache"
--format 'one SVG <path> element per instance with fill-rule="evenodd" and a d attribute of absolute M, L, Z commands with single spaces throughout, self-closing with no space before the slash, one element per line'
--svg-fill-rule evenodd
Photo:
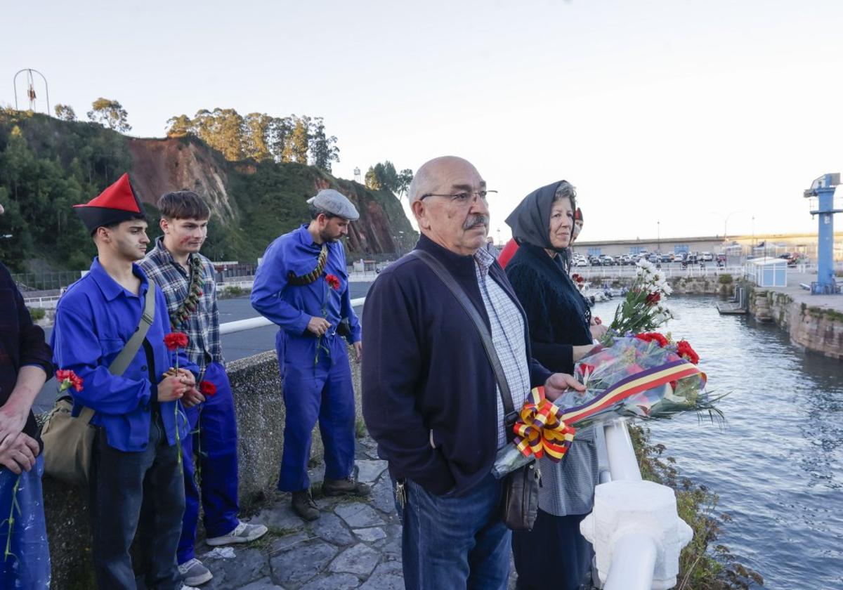
<path fill-rule="evenodd" d="M 464 289 L 491 331 L 472 256 L 421 236 L 416 249 L 436 256 Z M 491 279 L 524 315 L 502 268 Z M 480 336 L 454 295 L 427 265 L 405 256 L 380 273 L 363 308 L 362 407 L 368 430 L 395 479 L 434 494 L 468 491 L 497 453 L 497 389 Z M 530 379 L 550 372 L 530 357 Z M 436 448 L 431 446 L 431 431 Z"/>

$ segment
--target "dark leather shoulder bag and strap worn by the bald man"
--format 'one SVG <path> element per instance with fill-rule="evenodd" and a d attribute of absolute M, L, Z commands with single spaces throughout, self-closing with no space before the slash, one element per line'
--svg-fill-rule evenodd
<path fill-rule="evenodd" d="M 459 301 L 466 314 L 474 322 L 483 348 L 486 350 L 492 370 L 495 372 L 497 388 L 501 391 L 501 400 L 504 411 L 504 428 L 507 432 L 507 441 L 512 442 L 515 437 L 513 425 L 518 419 L 518 412 L 513 407 L 513 395 L 509 390 L 507 377 L 503 373 L 501 360 L 497 357 L 495 346 L 491 342 L 491 334 L 486 324 L 483 323 L 481 314 L 471 303 L 468 296 L 459 287 L 454 276 L 447 268 L 432 255 L 423 250 L 413 250 L 410 255 L 423 261 L 430 269 L 445 283 L 445 286 L 453 293 L 454 298 Z M 503 480 L 503 496 L 501 501 L 501 520 L 512 530 L 532 530 L 535 517 L 539 510 L 539 486 L 541 485 L 541 471 L 539 465 L 533 461 L 520 469 L 515 469 L 507 474 Z"/>

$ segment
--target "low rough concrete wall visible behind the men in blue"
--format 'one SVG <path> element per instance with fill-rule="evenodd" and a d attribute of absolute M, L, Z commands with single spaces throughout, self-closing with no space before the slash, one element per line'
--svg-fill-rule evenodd
<path fill-rule="evenodd" d="M 349 350 L 349 357 L 352 351 Z M 241 511 L 276 489 L 284 432 L 282 383 L 274 351 L 228 363 L 239 429 L 239 494 Z M 352 362 L 352 378 L 360 407 L 360 367 Z M 322 441 L 314 429 L 312 456 L 321 458 Z M 56 590 L 95 587 L 90 561 L 90 527 L 86 495 L 81 489 L 44 478 L 44 507 Z"/>

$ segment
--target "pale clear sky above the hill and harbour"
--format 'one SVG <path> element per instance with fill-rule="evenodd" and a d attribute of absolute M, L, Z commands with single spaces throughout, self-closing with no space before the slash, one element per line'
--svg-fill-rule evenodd
<path fill-rule="evenodd" d="M 503 239 L 562 178 L 583 240 L 810 231 L 802 190 L 843 171 L 840 0 L 3 4 L 0 104 L 32 67 L 51 105 L 117 99 L 145 137 L 201 108 L 321 115 L 344 178 L 468 158 Z"/>

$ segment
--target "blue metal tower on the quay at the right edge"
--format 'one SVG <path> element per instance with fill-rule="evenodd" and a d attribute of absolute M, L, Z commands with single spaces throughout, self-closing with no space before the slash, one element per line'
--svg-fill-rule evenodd
<path fill-rule="evenodd" d="M 811 217 L 819 215 L 817 243 L 817 282 L 811 285 L 813 295 L 837 292 L 835 282 L 835 222 L 834 214 L 843 212 L 843 203 L 835 209 L 835 188 L 840 185 L 840 173 L 823 174 L 803 193 L 810 199 Z"/>

